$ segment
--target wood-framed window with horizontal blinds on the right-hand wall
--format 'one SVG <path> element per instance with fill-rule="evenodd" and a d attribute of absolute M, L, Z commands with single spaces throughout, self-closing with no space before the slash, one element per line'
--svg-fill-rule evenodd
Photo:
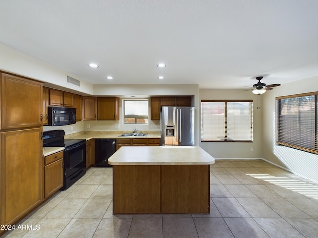
<path fill-rule="evenodd" d="M 276 98 L 277 143 L 318 154 L 318 92 Z"/>

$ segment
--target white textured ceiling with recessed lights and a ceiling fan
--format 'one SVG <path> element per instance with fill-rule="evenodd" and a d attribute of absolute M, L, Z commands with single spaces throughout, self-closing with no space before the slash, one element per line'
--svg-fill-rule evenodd
<path fill-rule="evenodd" d="M 93 84 L 284 84 L 318 76 L 318 1 L 0 0 L 0 42 Z"/>

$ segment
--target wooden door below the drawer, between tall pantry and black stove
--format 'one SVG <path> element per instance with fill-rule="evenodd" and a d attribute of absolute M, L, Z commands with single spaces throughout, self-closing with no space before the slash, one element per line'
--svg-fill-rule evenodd
<path fill-rule="evenodd" d="M 44 167 L 44 199 L 63 187 L 63 158 Z"/>

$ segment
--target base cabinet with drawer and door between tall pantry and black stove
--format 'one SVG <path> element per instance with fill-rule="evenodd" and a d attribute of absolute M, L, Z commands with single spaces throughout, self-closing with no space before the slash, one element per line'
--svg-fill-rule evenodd
<path fill-rule="evenodd" d="M 63 151 L 44 158 L 44 199 L 63 187 Z"/>

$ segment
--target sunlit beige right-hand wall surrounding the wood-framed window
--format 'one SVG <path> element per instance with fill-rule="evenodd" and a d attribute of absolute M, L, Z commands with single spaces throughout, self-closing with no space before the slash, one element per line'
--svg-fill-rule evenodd
<path fill-rule="evenodd" d="M 303 79 L 267 91 L 263 97 L 262 157 L 304 178 L 318 182 L 318 155 L 276 145 L 275 97 L 318 91 L 318 77 Z"/>

